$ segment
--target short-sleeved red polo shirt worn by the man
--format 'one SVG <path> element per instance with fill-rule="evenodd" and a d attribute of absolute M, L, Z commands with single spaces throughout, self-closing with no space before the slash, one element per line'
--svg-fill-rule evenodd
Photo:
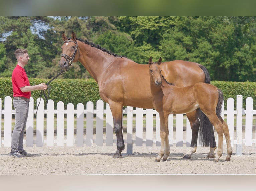
<path fill-rule="evenodd" d="M 12 90 L 13 97 L 26 97 L 30 98 L 31 92 L 22 92 L 20 88 L 30 86 L 26 71 L 17 65 L 12 72 Z"/>

